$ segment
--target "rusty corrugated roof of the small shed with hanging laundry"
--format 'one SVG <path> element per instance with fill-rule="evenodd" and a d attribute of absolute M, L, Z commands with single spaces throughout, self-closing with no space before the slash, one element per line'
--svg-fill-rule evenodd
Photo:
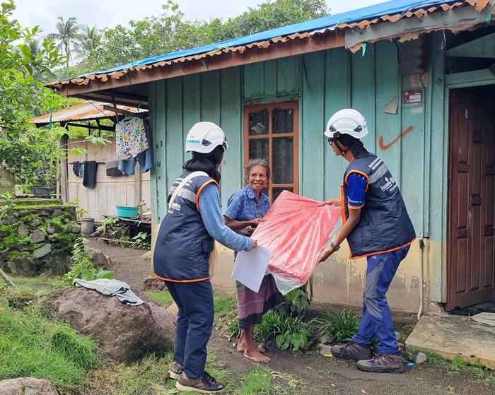
<path fill-rule="evenodd" d="M 78 105 L 58 110 L 51 114 L 52 122 L 71 122 L 71 121 L 89 121 L 90 119 L 102 119 L 115 117 L 115 112 L 104 110 L 103 106 L 108 105 L 104 102 L 95 102 L 88 100 Z M 120 110 L 129 112 L 147 112 L 148 110 L 138 110 L 136 107 L 117 105 Z M 50 114 L 41 115 L 29 120 L 30 124 L 49 124 Z"/>

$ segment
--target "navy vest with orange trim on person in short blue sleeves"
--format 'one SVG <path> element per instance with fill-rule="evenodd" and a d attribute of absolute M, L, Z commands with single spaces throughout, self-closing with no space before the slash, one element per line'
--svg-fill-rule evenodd
<path fill-rule="evenodd" d="M 368 153 L 366 158 L 352 160 L 344 173 L 342 184 L 344 221 L 349 218 L 347 176 L 351 172 L 358 172 L 368 179 L 361 218 L 347 236 L 351 258 L 389 252 L 411 244 L 416 239 L 416 234 L 399 186 L 387 165 L 373 153 Z"/>

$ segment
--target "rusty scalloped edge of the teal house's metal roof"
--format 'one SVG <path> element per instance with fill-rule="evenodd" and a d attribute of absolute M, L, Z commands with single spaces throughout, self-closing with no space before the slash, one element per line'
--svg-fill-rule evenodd
<path fill-rule="evenodd" d="M 290 40 L 296 40 L 296 38 L 303 39 L 306 37 L 311 37 L 313 35 L 326 35 L 328 33 L 331 33 L 334 30 L 344 30 L 346 33 L 346 37 L 349 34 L 348 32 L 351 32 L 352 30 L 359 28 L 361 31 L 365 31 L 364 28 L 371 28 L 371 25 L 381 25 L 382 23 L 386 23 L 387 25 L 390 25 L 390 23 L 397 23 L 400 22 L 401 20 L 408 20 L 411 19 L 412 16 L 416 16 L 418 19 L 423 18 L 424 16 L 431 16 L 431 14 L 434 13 L 434 11 L 437 11 L 440 9 L 441 11 L 451 11 L 453 8 L 460 8 L 465 5 L 469 5 L 470 9 L 472 9 L 474 12 L 481 12 L 484 8 L 486 8 L 489 4 L 491 4 L 491 1 L 495 0 L 462 0 L 462 1 L 455 1 L 453 3 L 452 1 L 445 1 L 445 3 L 442 4 L 436 4 L 434 6 L 430 6 L 427 9 L 420 8 L 417 9 L 416 11 L 411 11 L 411 12 L 403 12 L 403 13 L 396 13 L 393 15 L 385 15 L 385 16 L 380 16 L 377 18 L 374 18 L 373 20 L 361 20 L 361 21 L 355 21 L 353 23 L 340 23 L 337 26 L 330 27 L 330 28 L 324 28 L 324 29 L 319 29 L 319 30 L 313 30 L 311 32 L 304 32 L 304 33 L 293 33 L 291 35 L 286 35 L 286 36 L 279 36 L 279 37 L 272 37 L 269 40 L 264 40 L 260 42 L 252 42 L 248 45 L 241 45 L 238 47 L 228 47 L 224 49 L 216 49 L 211 52 L 204 52 L 202 54 L 195 54 L 195 55 L 190 55 L 187 57 L 179 57 L 175 59 L 170 59 L 166 61 L 158 61 L 153 64 L 144 64 L 144 65 L 139 65 L 135 67 L 131 67 L 129 69 L 122 69 L 118 71 L 111 71 L 108 73 L 92 73 L 88 74 L 87 76 L 83 77 L 77 77 L 77 78 L 69 78 L 67 80 L 63 81 L 54 81 L 52 83 L 47 83 L 46 86 L 50 88 L 55 88 L 57 90 L 62 90 L 64 86 L 67 86 L 68 84 L 75 84 L 75 85 L 87 85 L 90 81 L 95 81 L 95 80 L 100 80 L 101 82 L 105 83 L 106 81 L 111 78 L 112 80 L 118 80 L 125 76 L 129 71 L 141 71 L 141 70 L 146 70 L 146 69 L 152 69 L 153 67 L 158 67 L 158 66 L 167 66 L 167 65 L 172 65 L 172 64 L 178 64 L 178 63 L 185 63 L 188 61 L 192 60 L 200 60 L 200 59 L 205 59 L 206 57 L 214 57 L 214 56 L 224 56 L 225 54 L 228 54 L 229 52 L 240 52 L 243 53 L 246 49 L 251 49 L 253 47 L 258 47 L 258 48 L 264 48 L 267 49 L 269 48 L 269 45 L 271 42 L 276 43 L 276 42 L 287 42 Z M 495 8 L 491 8 L 491 13 L 495 12 Z M 426 19 L 426 18 L 424 18 Z M 388 23 L 387 23 L 388 22 Z M 440 27 L 439 27 L 440 28 Z M 394 30 L 399 30 L 399 29 L 394 29 Z M 401 32 L 395 32 L 393 35 L 394 37 L 397 37 L 397 35 L 400 35 Z M 402 32 L 404 36 L 410 36 L 410 32 Z M 390 35 L 388 36 L 383 36 L 383 38 L 368 38 L 368 40 L 360 40 L 359 42 L 354 42 L 354 43 L 349 43 L 347 44 L 347 38 L 346 38 L 346 43 L 342 43 L 342 46 L 345 46 L 347 49 L 350 50 L 357 50 L 359 47 L 362 46 L 363 42 L 374 42 L 377 40 L 390 40 Z M 163 77 L 162 77 L 163 78 Z M 166 77 L 165 77 L 166 78 Z M 161 79 L 161 78 L 158 78 Z M 122 86 L 127 85 L 126 81 L 122 83 Z M 88 92 L 93 91 L 93 90 L 88 90 Z"/>

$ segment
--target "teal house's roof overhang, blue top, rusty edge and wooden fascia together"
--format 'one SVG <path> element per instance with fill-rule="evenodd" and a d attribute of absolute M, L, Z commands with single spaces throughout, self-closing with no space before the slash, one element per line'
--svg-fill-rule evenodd
<path fill-rule="evenodd" d="M 137 105 L 147 100 L 147 90 L 143 86 L 151 81 L 334 47 L 356 51 L 364 42 L 395 38 L 411 40 L 426 31 L 445 28 L 462 30 L 466 24 L 474 26 L 489 18 L 495 8 L 485 8 L 493 1 L 392 0 L 213 45 L 143 59 L 47 86 L 63 96 Z M 467 19 L 460 20 L 454 10 L 462 11 L 462 18 Z M 412 18 L 414 16 L 416 18 Z M 138 90 L 141 90 L 140 95 L 136 95 Z"/>

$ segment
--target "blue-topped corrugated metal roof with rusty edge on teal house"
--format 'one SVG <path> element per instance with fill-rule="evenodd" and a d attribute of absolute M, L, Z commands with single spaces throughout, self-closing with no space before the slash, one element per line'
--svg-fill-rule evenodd
<path fill-rule="evenodd" d="M 438 9 L 448 11 L 454 7 L 465 5 L 475 6 L 476 10 L 482 11 L 494 0 L 392 0 L 385 3 L 375 4 L 354 11 L 339 13 L 325 16 L 314 20 L 308 20 L 295 25 L 284 26 L 273 30 L 267 30 L 254 35 L 234 38 L 223 42 L 217 42 L 204 47 L 186 49 L 170 54 L 163 54 L 157 57 L 151 57 L 140 61 L 116 66 L 106 71 L 88 73 L 83 76 L 71 78 L 69 80 L 59 81 L 47 84 L 54 88 L 61 88 L 66 83 L 75 83 L 77 85 L 86 85 L 89 81 L 98 78 L 101 82 L 106 82 L 109 78 L 119 79 L 130 70 L 144 70 L 156 66 L 165 66 L 174 63 L 182 63 L 193 59 L 204 59 L 228 52 L 244 52 L 246 48 L 260 47 L 267 48 L 270 42 L 286 42 L 296 38 L 306 38 L 318 33 L 325 33 L 327 30 L 342 30 L 344 28 L 367 28 L 374 23 L 383 21 L 396 22 L 401 18 L 411 18 L 416 16 L 426 16 Z M 491 13 L 495 13 L 495 8 L 491 8 Z"/>

